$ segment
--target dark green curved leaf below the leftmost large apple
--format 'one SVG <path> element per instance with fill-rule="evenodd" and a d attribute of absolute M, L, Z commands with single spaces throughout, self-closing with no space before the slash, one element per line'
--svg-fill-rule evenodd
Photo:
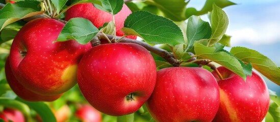
<path fill-rule="evenodd" d="M 43 121 L 57 121 L 54 113 L 43 102 L 28 102 L 17 97 L 16 100 L 28 105 L 31 109 L 35 110 L 42 118 Z"/>

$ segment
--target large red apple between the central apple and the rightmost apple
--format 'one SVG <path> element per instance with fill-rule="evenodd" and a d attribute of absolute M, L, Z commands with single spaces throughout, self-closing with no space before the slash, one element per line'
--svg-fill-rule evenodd
<path fill-rule="evenodd" d="M 220 102 L 219 86 L 203 68 L 172 67 L 157 73 L 146 106 L 156 121 L 212 121 Z"/>

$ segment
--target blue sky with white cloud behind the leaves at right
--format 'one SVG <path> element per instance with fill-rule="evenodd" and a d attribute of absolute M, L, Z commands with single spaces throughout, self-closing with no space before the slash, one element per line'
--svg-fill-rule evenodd
<path fill-rule="evenodd" d="M 205 1 L 191 0 L 188 7 L 200 10 Z M 230 20 L 226 34 L 232 36 L 232 46 L 257 50 L 280 67 L 280 1 L 232 0 L 231 2 L 238 5 L 229 6 L 223 10 Z M 207 16 L 201 18 L 205 21 L 208 20 Z M 280 86 L 267 79 L 266 81 L 268 87 L 277 90 L 280 95 Z"/>

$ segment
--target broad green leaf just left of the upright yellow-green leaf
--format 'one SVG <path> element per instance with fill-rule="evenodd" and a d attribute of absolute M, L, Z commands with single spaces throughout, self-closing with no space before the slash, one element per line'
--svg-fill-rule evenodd
<path fill-rule="evenodd" d="M 209 39 L 211 37 L 211 33 L 211 27 L 208 22 L 203 21 L 198 16 L 190 17 L 187 25 L 187 49 L 193 46 L 194 41 Z"/>

